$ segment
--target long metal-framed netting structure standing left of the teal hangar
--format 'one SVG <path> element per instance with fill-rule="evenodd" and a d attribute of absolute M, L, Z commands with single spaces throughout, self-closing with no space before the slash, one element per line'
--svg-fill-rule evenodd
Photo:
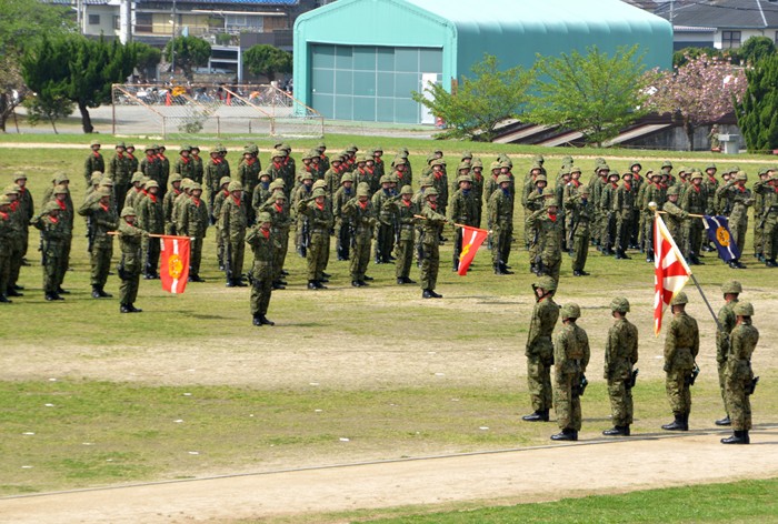
<path fill-rule="evenodd" d="M 113 134 L 317 138 L 325 119 L 273 85 L 113 84 Z"/>

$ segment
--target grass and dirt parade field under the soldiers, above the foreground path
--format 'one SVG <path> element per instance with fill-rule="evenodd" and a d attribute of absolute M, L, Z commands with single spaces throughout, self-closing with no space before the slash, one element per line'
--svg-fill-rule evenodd
<path fill-rule="evenodd" d="M 0 135 L 0 142 L 38 142 L 44 137 L 7 134 Z M 110 153 L 110 139 L 103 138 Z M 83 135 L 46 138 L 54 140 L 88 142 Z M 222 141 L 231 148 L 245 143 Z M 292 141 L 292 147 L 299 154 L 315 142 Z M 485 163 L 497 152 L 513 153 L 518 175 L 529 169 L 528 155 L 540 151 L 340 135 L 327 142 L 331 151 L 350 142 L 366 147 L 380 143 L 388 152 L 407 145 L 417 183 L 426 152 L 433 145 L 442 147 L 447 158 L 471 150 Z M 205 142 L 201 145 L 207 147 Z M 26 171 L 39 205 L 51 175 L 64 170 L 71 173 L 74 202 L 81 202 L 87 150 L 2 149 L 0 184 L 9 183 L 14 171 Z M 176 151 L 176 147 L 170 148 L 171 155 Z M 577 163 L 585 179 L 599 155 L 606 155 L 619 170 L 632 158 L 645 159 L 646 167 L 652 169 L 665 158 L 700 168 L 715 159 L 720 167 L 735 162 L 747 165 L 749 175 L 768 162 L 768 158 L 725 160 L 710 153 L 542 152 L 551 173 L 561 155 L 572 154 L 580 160 Z M 229 158 L 237 163 L 238 154 Z M 262 161 L 267 162 L 267 154 Z M 517 232 L 521 220 L 518 213 Z M 353 290 L 348 263 L 332 261 L 328 268 L 333 274 L 330 290 L 307 291 L 305 261 L 290 253 L 290 286 L 273 294 L 268 313 L 277 325 L 257 329 L 250 323 L 248 291 L 223 286 L 212 231 L 201 272 L 206 284 L 190 284 L 183 295 L 173 296 L 162 292 L 159 282 L 142 281 L 137 305 L 144 313 L 120 315 L 116 299 L 92 300 L 89 295 L 86 228 L 80 218 L 76 223 L 72 271 L 64 282 L 72 294 L 62 303 L 43 300 L 33 241 L 29 253 L 32 265 L 22 269 L 20 280 L 27 288 L 26 296 L 0 308 L 0 427 L 4 434 L 0 440 L 0 495 L 512 449 L 547 443 L 556 431 L 555 424 L 521 424 L 518 420 L 529 410 L 523 344 L 533 304 L 533 275 L 520 243 L 511 256 L 516 275 L 495 275 L 483 250 L 466 278 L 450 271 L 451 246 L 447 243 L 441 250 L 438 286 L 445 300 L 431 303 L 420 300 L 418 286 L 395 285 L 393 265 L 371 264 L 373 285 Z M 36 238 L 33 232 L 31 239 Z M 762 337 L 754 365 L 762 381 L 752 401 L 755 423 L 765 424 L 775 423 L 778 412 L 778 359 L 772 351 L 778 328 L 769 323 L 769 312 L 778 306 L 778 292 L 776 273 L 754 261 L 750 245 L 749 239 L 744 259 L 748 271 L 734 272 L 708 255 L 707 264 L 695 268 L 695 273 L 714 309 L 721 305 L 719 285 L 734 276 L 756 304 L 755 324 Z M 604 340 L 611 323 L 607 306 L 617 294 L 629 298 L 630 316 L 641 336 L 635 431 L 656 432 L 669 420 L 669 410 L 661 373 L 662 339 L 655 339 L 651 331 L 652 266 L 641 261 L 639 253 L 630 261 L 616 261 L 592 250 L 587 270 L 592 276 L 573 279 L 566 258 L 558 292 L 559 303 L 576 301 L 582 306 L 580 324 L 592 345 L 587 373 L 591 386 L 584 401 L 581 435 L 592 439 L 610 426 L 601 369 Z M 413 270 L 411 278 L 417 275 Z M 118 286 L 118 279 L 111 276 L 107 291 L 116 295 Z M 702 330 L 702 374 L 694 391 L 691 423 L 694 427 L 711 427 L 722 414 L 715 370 L 715 326 L 699 294 L 687 291 L 691 314 Z M 734 493 L 740 490 L 737 486 Z M 748 492 L 751 485 L 742 486 Z M 766 486 L 774 488 L 775 484 Z M 584 504 L 578 506 L 580 511 L 589 511 L 586 501 L 569 504 Z M 568 502 L 559 504 L 563 514 Z M 605 513 L 584 520 L 618 521 L 617 514 L 607 513 L 609 504 L 618 506 L 617 502 L 605 502 L 597 510 Z M 547 520 L 556 520 L 552 515 Z M 732 515 L 736 521 L 748 520 L 745 514 Z M 631 515 L 626 520 L 640 518 Z M 668 517 L 672 518 L 684 520 Z M 706 518 L 717 517 L 702 514 L 699 520 Z M 698 521 L 696 515 L 689 520 Z"/>

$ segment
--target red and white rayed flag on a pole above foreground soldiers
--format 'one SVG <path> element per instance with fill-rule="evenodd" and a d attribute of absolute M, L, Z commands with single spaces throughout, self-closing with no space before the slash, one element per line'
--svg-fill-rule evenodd
<path fill-rule="evenodd" d="M 691 276 L 689 265 L 659 214 L 654 219 L 654 334 L 659 336 L 665 309 Z"/>

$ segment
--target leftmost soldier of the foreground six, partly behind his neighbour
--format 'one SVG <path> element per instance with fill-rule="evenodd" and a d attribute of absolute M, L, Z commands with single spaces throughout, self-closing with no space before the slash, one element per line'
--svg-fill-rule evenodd
<path fill-rule="evenodd" d="M 527 422 L 548 422 L 551 409 L 551 365 L 553 364 L 553 326 L 559 320 L 559 306 L 553 302 L 557 282 L 550 276 L 541 276 L 532 285 L 535 309 L 527 334 L 527 382 L 532 410 L 521 420 Z"/>

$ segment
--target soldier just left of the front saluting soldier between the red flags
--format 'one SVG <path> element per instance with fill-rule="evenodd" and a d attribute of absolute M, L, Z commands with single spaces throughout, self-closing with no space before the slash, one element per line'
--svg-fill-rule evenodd
<path fill-rule="evenodd" d="M 221 242 L 225 245 L 227 288 L 245 288 L 242 274 L 246 228 L 248 226 L 246 209 L 248 205 L 246 205 L 243 198 L 243 184 L 233 180 L 227 187 L 227 191 L 229 195 L 225 199 L 219 211 Z"/>

